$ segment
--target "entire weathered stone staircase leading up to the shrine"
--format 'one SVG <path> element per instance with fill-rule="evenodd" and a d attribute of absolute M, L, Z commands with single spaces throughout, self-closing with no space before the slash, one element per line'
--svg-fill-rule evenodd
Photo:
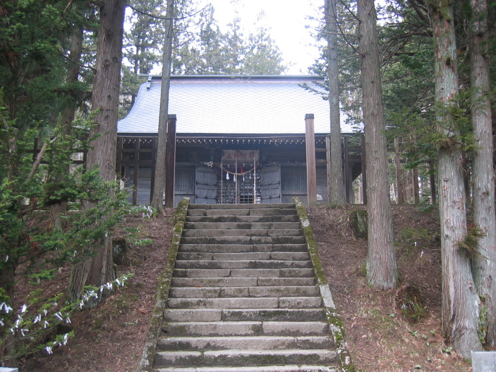
<path fill-rule="evenodd" d="M 157 372 L 337 372 L 294 204 L 191 204 Z"/>

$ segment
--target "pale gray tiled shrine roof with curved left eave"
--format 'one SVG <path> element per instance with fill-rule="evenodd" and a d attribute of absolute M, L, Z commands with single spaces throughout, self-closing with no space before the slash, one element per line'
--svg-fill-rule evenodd
<path fill-rule="evenodd" d="M 303 89 L 313 76 L 173 76 L 169 113 L 177 133 L 304 133 L 305 114 L 314 114 L 315 133 L 329 133 L 329 102 Z M 119 133 L 156 133 L 161 78 L 141 85 L 136 102 L 119 121 Z M 342 116 L 344 116 L 342 114 Z M 342 132 L 351 128 L 341 127 Z"/>

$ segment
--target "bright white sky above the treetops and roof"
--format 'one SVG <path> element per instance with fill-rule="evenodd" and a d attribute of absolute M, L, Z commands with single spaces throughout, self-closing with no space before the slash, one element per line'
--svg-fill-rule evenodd
<path fill-rule="evenodd" d="M 321 17 L 320 7 L 324 0 L 240 0 L 238 5 L 233 5 L 230 0 L 202 0 L 202 3 L 212 3 L 221 29 L 232 22 L 236 7 L 245 35 L 255 31 L 254 23 L 263 10 L 265 19 L 262 25 L 270 28 L 270 36 L 281 51 L 284 64 L 289 66 L 286 75 L 307 75 L 308 66 L 319 57 L 312 36 L 317 25 L 307 18 Z"/>

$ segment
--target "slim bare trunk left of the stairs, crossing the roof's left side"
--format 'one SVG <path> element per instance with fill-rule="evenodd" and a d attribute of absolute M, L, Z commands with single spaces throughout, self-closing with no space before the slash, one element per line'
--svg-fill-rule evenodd
<path fill-rule="evenodd" d="M 153 196 L 151 206 L 162 213 L 164 205 L 162 203 L 165 192 L 165 153 L 167 145 L 167 121 L 169 111 L 169 86 L 170 86 L 170 66 L 172 59 L 172 14 L 174 10 L 174 0 L 167 0 L 167 10 L 165 28 L 167 34 L 164 40 L 164 54 L 162 58 L 162 85 L 160 91 L 159 110 L 159 138 L 157 139 L 157 152 L 155 162 L 155 184 L 153 186 Z"/>

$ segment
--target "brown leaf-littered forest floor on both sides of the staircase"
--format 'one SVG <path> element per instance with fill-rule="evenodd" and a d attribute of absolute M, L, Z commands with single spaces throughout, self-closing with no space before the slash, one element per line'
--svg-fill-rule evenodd
<path fill-rule="evenodd" d="M 320 206 L 308 213 L 357 372 L 470 372 L 470 364 L 442 337 L 437 211 L 393 206 L 401 283 L 398 289 L 377 291 L 366 285 L 367 242 L 351 233 L 352 210 Z M 72 316 L 75 337 L 67 345 L 54 348 L 53 355 L 37 352 L 19 360 L 20 372 L 135 370 L 155 304 L 157 277 L 166 264 L 173 212 L 169 209 L 165 216 L 152 219 L 141 214 L 126 218 L 126 226 L 139 227 L 140 238 L 153 241 L 131 249 L 119 265 L 120 274 L 133 277 L 98 308 Z M 124 230 L 116 235 L 124 236 Z M 69 268 L 64 268 L 57 280 L 42 283 L 44 294 L 63 291 L 68 275 Z M 32 289 L 19 277 L 15 305 L 20 307 Z M 425 307 L 424 312 L 417 311 L 419 319 L 405 316 L 398 305 L 408 293 L 417 293 Z"/>

